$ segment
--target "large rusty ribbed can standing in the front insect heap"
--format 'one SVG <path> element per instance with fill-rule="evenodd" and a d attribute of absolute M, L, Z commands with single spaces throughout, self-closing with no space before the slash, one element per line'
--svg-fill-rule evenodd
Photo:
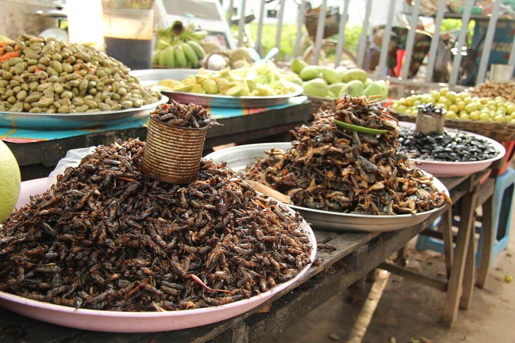
<path fill-rule="evenodd" d="M 170 125 L 150 116 L 143 173 L 169 183 L 196 180 L 207 129 Z"/>

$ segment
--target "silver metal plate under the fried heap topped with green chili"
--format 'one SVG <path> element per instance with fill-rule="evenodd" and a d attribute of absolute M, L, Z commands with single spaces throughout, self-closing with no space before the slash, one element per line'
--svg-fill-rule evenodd
<path fill-rule="evenodd" d="M 265 156 L 264 151 L 266 150 L 271 148 L 286 150 L 289 147 L 291 147 L 290 142 L 240 145 L 212 152 L 205 158 L 212 159 L 215 163 L 227 162 L 227 165 L 232 169 L 242 170 L 247 165 L 254 162 L 256 157 Z M 445 191 L 449 194 L 447 188 L 445 188 L 437 178 L 433 178 L 433 184 L 439 190 Z M 445 206 L 431 211 L 417 213 L 415 215 L 399 214 L 394 216 L 373 216 L 320 211 L 296 205 L 288 206 L 298 211 L 306 221 L 311 223 L 312 227 L 316 229 L 367 232 L 384 232 L 404 229 L 419 224 L 432 214 L 447 208 L 447 206 Z"/>

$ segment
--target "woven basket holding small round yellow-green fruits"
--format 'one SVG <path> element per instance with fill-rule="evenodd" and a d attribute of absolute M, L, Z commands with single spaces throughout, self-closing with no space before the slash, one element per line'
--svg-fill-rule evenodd
<path fill-rule="evenodd" d="M 390 112 L 400 121 L 415 123 L 417 117 L 405 113 Z M 515 140 L 515 125 L 501 124 L 496 122 L 465 121 L 462 119 L 445 118 L 445 127 L 474 132 L 487 136 L 498 142 L 509 142 Z"/>

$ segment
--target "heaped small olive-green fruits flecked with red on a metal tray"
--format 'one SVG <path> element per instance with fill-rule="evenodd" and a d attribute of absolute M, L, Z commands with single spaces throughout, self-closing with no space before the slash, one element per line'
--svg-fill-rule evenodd
<path fill-rule="evenodd" d="M 161 98 L 129 71 L 91 46 L 24 35 L 0 43 L 0 111 L 118 111 Z"/>

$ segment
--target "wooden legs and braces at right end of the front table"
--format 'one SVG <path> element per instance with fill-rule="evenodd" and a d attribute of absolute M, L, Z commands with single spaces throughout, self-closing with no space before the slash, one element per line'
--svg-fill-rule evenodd
<path fill-rule="evenodd" d="M 402 256 L 394 263 L 384 262 L 380 265 L 381 268 L 406 279 L 444 291 L 442 323 L 448 327 L 452 327 L 456 323 L 458 308 L 467 310 L 469 307 L 474 283 L 483 288 L 488 276 L 495 231 L 493 228 L 493 195 L 498 169 L 501 165 L 502 161 L 498 161 L 490 169 L 471 176 L 441 179 L 445 181 L 445 186 L 450 192 L 453 206 L 442 215 L 438 231 L 424 230 L 421 234 L 443 240 L 447 281 L 428 277 L 405 268 Z M 487 175 L 488 178 L 484 179 Z M 483 244 L 480 247 L 482 249 L 481 261 L 476 278 L 474 223 L 476 221 L 475 210 L 478 207 L 483 210 L 481 218 Z M 457 234 L 453 234 L 452 231 L 453 216 L 455 215 L 460 218 L 456 223 Z"/>

